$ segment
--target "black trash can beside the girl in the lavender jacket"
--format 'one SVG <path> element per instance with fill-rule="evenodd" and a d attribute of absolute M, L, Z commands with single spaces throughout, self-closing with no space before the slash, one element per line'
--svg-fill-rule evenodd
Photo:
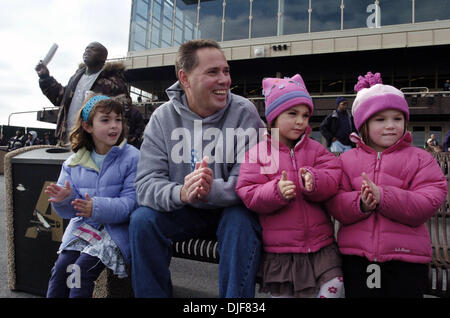
<path fill-rule="evenodd" d="M 10 189 L 6 186 L 6 196 L 12 196 L 9 232 L 13 231 L 13 235 L 8 235 L 8 263 L 13 267 L 9 270 L 11 289 L 40 296 L 47 292 L 68 220 L 63 221 L 53 210 L 44 190 L 58 180 L 62 163 L 71 154 L 61 148 L 20 149 L 17 155 L 11 153 Z M 6 179 L 5 173 L 5 184 Z"/>

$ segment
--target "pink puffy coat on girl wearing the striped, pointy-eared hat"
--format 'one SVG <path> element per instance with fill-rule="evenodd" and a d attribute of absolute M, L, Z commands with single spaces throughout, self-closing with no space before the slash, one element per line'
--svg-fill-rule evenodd
<path fill-rule="evenodd" d="M 267 141 L 247 152 L 245 162 L 241 164 L 236 192 L 250 210 L 259 214 L 267 252 L 316 252 L 334 242 L 333 224 L 321 202 L 336 194 L 342 172 L 333 154 L 305 137 L 309 131 L 293 150 L 283 144 L 279 149 L 274 145 L 276 149 L 267 150 L 272 145 L 268 136 Z M 314 177 L 311 192 L 303 187 L 298 173 L 301 167 Z M 296 186 L 297 195 L 289 201 L 282 197 L 278 187 L 283 170 Z"/>

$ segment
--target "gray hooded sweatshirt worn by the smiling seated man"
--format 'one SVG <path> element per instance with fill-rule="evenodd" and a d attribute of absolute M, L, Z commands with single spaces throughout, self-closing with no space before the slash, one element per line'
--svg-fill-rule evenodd
<path fill-rule="evenodd" d="M 235 193 L 240 162 L 265 127 L 255 106 L 229 92 L 225 108 L 202 118 L 189 109 L 178 82 L 166 93 L 170 100 L 155 110 L 144 131 L 135 180 L 139 205 L 158 211 L 184 207 L 180 199 L 184 178 L 203 156 L 210 158 L 214 180 L 207 202 L 192 206 L 216 209 L 240 204 Z"/>

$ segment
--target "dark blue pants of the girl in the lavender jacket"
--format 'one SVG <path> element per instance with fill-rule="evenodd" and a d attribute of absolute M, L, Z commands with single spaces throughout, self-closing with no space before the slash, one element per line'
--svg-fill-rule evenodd
<path fill-rule="evenodd" d="M 77 278 L 70 280 L 73 286 L 68 286 L 67 278 L 72 272 L 68 273 L 67 269 L 74 264 L 79 266 L 79 286 L 76 285 Z M 104 268 L 97 257 L 79 251 L 62 251 L 52 268 L 47 298 L 92 298 L 94 282 Z"/>

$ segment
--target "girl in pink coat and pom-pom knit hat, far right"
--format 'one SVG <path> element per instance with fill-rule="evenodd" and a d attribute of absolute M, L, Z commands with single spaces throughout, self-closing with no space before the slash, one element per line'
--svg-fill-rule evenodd
<path fill-rule="evenodd" d="M 361 137 L 339 156 L 338 194 L 326 204 L 341 223 L 346 297 L 422 297 L 431 260 L 425 222 L 447 195 L 437 161 L 411 146 L 408 103 L 379 73 L 360 76 L 352 114 Z"/>

